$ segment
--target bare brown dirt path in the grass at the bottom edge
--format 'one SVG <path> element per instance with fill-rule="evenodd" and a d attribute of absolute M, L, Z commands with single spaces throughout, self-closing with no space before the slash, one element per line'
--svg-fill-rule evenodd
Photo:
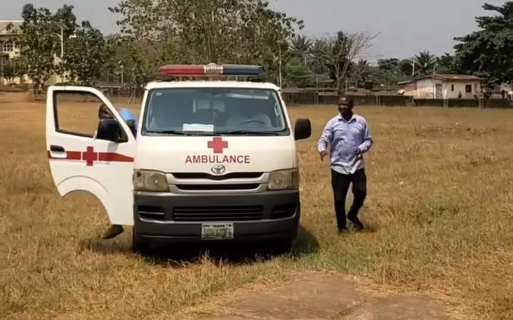
<path fill-rule="evenodd" d="M 336 274 L 301 274 L 214 308 L 197 320 L 248 319 L 455 319 L 447 306 L 420 295 L 378 294 Z"/>

